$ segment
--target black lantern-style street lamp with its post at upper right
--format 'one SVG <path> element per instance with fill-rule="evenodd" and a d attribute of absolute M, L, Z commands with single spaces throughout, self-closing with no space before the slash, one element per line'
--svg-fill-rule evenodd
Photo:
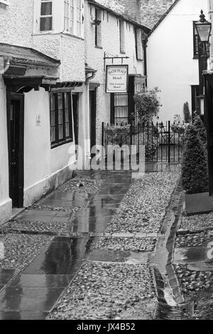
<path fill-rule="evenodd" d="M 204 77 L 202 72 L 207 70 L 207 59 L 209 58 L 209 37 L 212 31 L 212 23 L 206 20 L 203 11 L 200 11 L 200 21 L 195 22 L 195 28 L 199 38 L 198 60 L 199 60 L 199 96 L 200 114 L 204 117 Z"/>

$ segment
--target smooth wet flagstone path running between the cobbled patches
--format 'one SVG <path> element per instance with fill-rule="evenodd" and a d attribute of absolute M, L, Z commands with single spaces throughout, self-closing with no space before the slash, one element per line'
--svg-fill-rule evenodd
<path fill-rule="evenodd" d="M 87 175 L 86 172 L 85 175 Z M 88 175 L 91 175 L 91 172 Z M 138 254 L 131 252 L 96 250 L 89 254 L 92 244 L 97 241 L 98 235 L 106 230 L 131 184 L 129 172 L 105 172 L 92 175 L 94 178 L 105 180 L 108 178 L 106 183 L 103 183 L 99 194 L 55 191 L 39 203 L 52 206 L 84 206 L 84 209 L 76 212 L 72 221 L 70 221 L 70 212 L 60 210 L 26 210 L 18 217 L 19 221 L 50 222 L 51 224 L 65 222 L 67 227 L 63 230 L 67 230 L 68 233 L 87 233 L 87 235 L 54 237 L 48 247 L 43 249 L 18 276 L 15 276 L 15 272 L 0 271 L 0 290 L 8 284 L 0 293 L 0 319 L 45 319 L 62 291 L 80 270 L 85 259 L 103 262 L 147 262 L 145 254 L 143 257 L 138 257 Z M 96 235 L 90 237 L 88 232 Z"/>

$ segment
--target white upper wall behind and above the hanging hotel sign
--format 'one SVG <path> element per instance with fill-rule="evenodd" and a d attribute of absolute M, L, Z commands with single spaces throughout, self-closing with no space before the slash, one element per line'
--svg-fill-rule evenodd
<path fill-rule="evenodd" d="M 97 70 L 92 82 L 97 82 L 100 87 L 97 89 L 97 144 L 102 143 L 102 122 L 110 122 L 110 95 L 105 92 L 106 74 L 104 71 L 104 52 L 110 55 L 127 56 L 124 64 L 129 65 L 129 74 L 143 75 L 143 61 L 136 60 L 136 47 L 133 25 L 124 23 L 125 27 L 125 54 L 120 53 L 119 40 L 119 18 L 102 11 L 102 48 L 95 47 L 94 26 L 91 24 L 90 5 L 85 2 L 85 45 L 86 63 Z M 94 18 L 94 6 L 92 6 Z M 107 19 L 108 17 L 108 19 Z M 114 60 L 114 65 L 121 65 L 121 60 Z M 111 65 L 111 60 L 106 60 L 106 65 Z"/>

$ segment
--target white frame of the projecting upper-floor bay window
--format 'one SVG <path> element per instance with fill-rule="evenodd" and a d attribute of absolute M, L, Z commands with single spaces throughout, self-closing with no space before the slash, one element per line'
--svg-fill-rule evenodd
<path fill-rule="evenodd" d="M 64 22 L 63 22 L 63 26 L 64 26 L 64 30 L 63 32 L 64 33 L 67 33 L 67 34 L 70 34 L 70 35 L 74 35 L 74 36 L 77 36 L 77 37 L 83 37 L 83 31 L 84 31 L 84 22 L 83 22 L 83 17 L 84 17 L 84 0 L 80 0 L 81 3 L 80 3 L 80 6 L 81 6 L 81 14 L 80 14 L 80 19 L 81 21 L 77 21 L 77 2 L 76 0 L 73 1 L 73 5 L 74 8 L 73 9 L 73 21 L 71 20 L 71 4 L 72 4 L 72 0 L 64 0 L 64 16 L 63 16 L 63 19 L 64 19 Z M 67 12 L 65 11 L 65 5 L 67 4 L 67 2 L 69 2 L 69 13 L 67 16 Z M 65 16 L 66 14 L 66 16 Z M 68 18 L 68 27 L 65 25 L 65 19 Z M 80 22 L 80 33 L 77 33 L 77 22 Z"/>

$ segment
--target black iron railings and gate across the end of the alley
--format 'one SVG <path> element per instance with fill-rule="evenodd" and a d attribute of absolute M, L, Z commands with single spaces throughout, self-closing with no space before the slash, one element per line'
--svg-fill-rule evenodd
<path fill-rule="evenodd" d="M 102 124 L 102 145 L 146 146 L 146 162 L 178 163 L 182 161 L 183 131 L 175 130 L 170 121 L 153 124 Z"/>

